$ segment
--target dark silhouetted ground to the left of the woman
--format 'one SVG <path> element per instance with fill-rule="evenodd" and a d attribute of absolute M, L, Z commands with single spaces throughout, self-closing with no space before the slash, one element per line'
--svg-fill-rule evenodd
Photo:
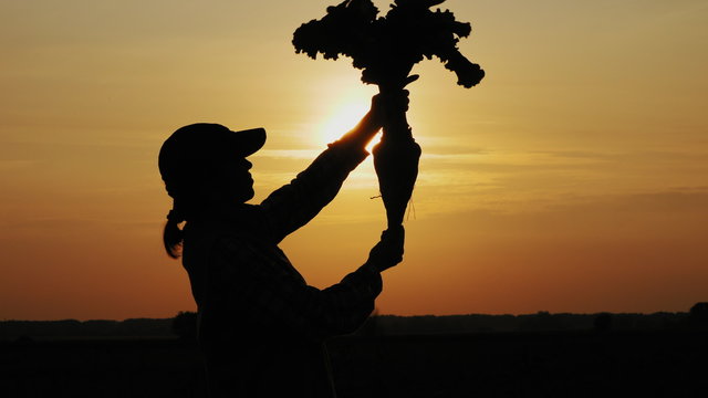
<path fill-rule="evenodd" d="M 205 396 L 199 349 L 177 338 L 20 339 L 0 352 L 0 397 Z"/>

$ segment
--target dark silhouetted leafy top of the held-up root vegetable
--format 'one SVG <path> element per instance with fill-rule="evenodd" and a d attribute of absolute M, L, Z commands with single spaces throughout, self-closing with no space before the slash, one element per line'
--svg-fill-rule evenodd
<path fill-rule="evenodd" d="M 402 86 L 413 65 L 436 55 L 457 74 L 467 88 L 485 76 L 478 64 L 457 49 L 460 38 L 471 32 L 469 23 L 455 20 L 452 12 L 429 8 L 445 0 L 395 0 L 385 17 L 371 0 L 345 0 L 327 8 L 320 20 L 303 23 L 293 35 L 298 53 L 312 59 L 350 56 L 361 69 L 362 81 L 379 86 Z"/>

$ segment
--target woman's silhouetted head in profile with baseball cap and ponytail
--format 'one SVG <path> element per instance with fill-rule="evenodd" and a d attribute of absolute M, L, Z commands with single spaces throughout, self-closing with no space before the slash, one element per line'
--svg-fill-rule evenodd
<path fill-rule="evenodd" d="M 167 253 L 179 256 L 178 223 L 226 203 L 253 197 L 251 163 L 246 157 L 266 143 L 266 130 L 231 132 L 218 124 L 198 123 L 178 128 L 165 140 L 158 167 L 167 193 L 174 199 L 165 226 Z"/>

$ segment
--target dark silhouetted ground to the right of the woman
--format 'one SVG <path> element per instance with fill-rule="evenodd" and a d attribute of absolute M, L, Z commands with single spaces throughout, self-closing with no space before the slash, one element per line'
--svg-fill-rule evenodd
<path fill-rule="evenodd" d="M 331 353 L 344 398 L 708 397 L 698 332 L 351 337 Z"/>

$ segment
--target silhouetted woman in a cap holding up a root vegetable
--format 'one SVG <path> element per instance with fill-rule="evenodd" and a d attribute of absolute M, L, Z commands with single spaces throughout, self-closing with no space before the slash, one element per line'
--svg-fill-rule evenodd
<path fill-rule="evenodd" d="M 334 396 L 323 342 L 371 314 L 381 272 L 403 260 L 403 227 L 384 231 L 364 265 L 324 290 L 308 285 L 278 243 L 336 196 L 385 115 L 407 104 L 405 91 L 375 96 L 354 129 L 260 205 L 247 203 L 247 157 L 263 146 L 264 129 L 200 123 L 165 140 L 159 171 L 174 206 L 164 242 L 189 275 L 210 396 Z"/>

